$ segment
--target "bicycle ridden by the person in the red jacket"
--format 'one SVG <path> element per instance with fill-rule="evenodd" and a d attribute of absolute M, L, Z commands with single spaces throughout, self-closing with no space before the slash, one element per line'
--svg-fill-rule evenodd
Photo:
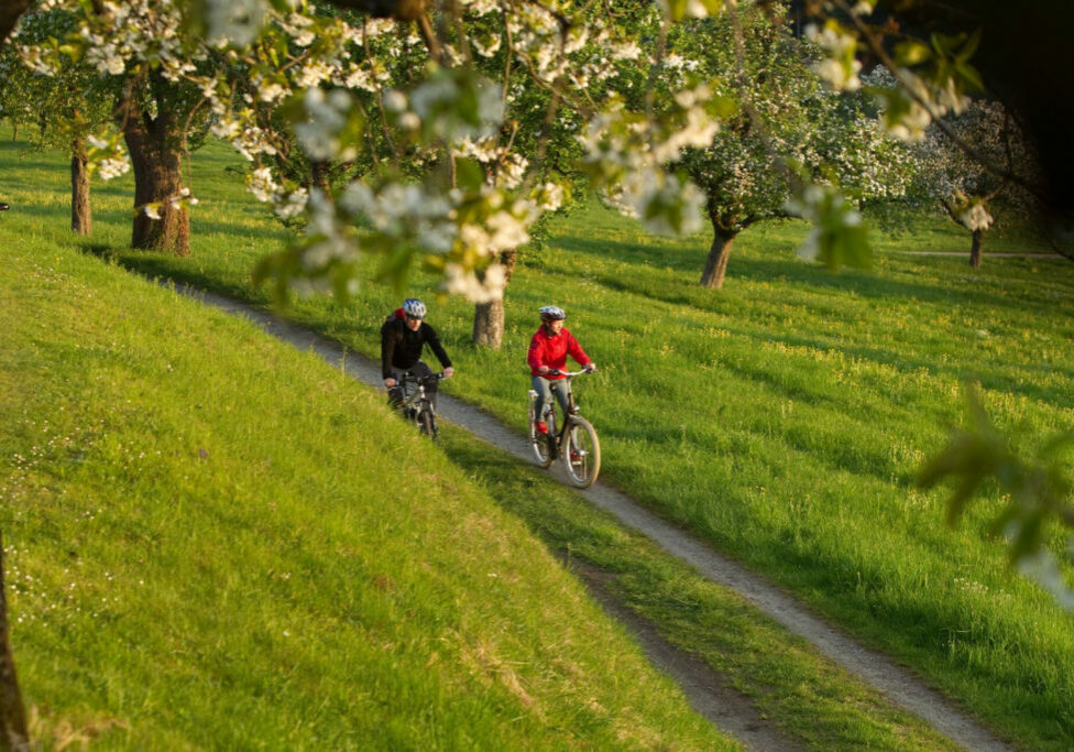
<path fill-rule="evenodd" d="M 596 431 L 592 424 L 583 418 L 574 403 L 574 393 L 569 389 L 570 380 L 573 377 L 589 373 L 589 371 L 549 371 L 550 375 L 562 373 L 567 377 L 567 415 L 563 425 L 556 432 L 556 408 L 548 405 L 545 408 L 545 425 L 548 433 L 541 434 L 537 431 L 537 415 L 534 406 L 537 400 L 537 392 L 529 390 L 529 444 L 534 450 L 537 465 L 543 468 L 549 467 L 558 457 L 566 457 L 565 465 L 567 476 L 578 488 L 589 488 L 596 480 L 596 475 L 601 471 L 601 445 L 596 439 Z"/>

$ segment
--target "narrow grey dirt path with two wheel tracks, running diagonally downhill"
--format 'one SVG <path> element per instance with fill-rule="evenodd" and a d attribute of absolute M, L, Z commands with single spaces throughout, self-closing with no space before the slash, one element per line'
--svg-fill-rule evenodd
<path fill-rule="evenodd" d="M 379 363 L 353 352 L 344 355 L 343 348 L 327 337 L 212 293 L 182 285 L 177 285 L 176 291 L 217 308 L 245 316 L 263 326 L 267 334 L 299 350 L 313 350 L 330 364 L 343 368 L 355 379 L 377 388 L 383 386 Z M 524 393 L 520 388 L 519 395 Z M 526 439 L 483 411 L 443 393 L 439 395 L 437 406 L 438 413 L 445 419 L 515 457 L 524 460 L 531 459 Z M 565 484 L 568 483 L 566 475 L 557 468 L 558 466 L 552 466 L 551 476 Z M 772 584 L 741 564 L 717 554 L 706 544 L 661 520 L 624 493 L 600 481 L 579 493 L 593 505 L 610 512 L 622 524 L 638 531 L 666 552 L 693 566 L 703 577 L 738 592 L 788 631 L 812 643 L 830 660 L 879 689 L 892 704 L 931 723 L 956 744 L 975 752 L 1013 749 L 997 739 L 946 697 L 927 686 L 912 672 L 895 664 L 887 656 L 863 646 Z M 596 592 L 595 597 L 605 610 L 615 611 L 606 597 L 601 598 L 600 592 Z M 731 704 L 734 704 L 734 699 L 727 697 L 723 688 L 714 686 L 711 677 L 700 677 L 695 673 L 697 666 L 693 665 L 697 662 L 683 663 L 684 654 L 662 643 L 655 634 L 646 634 L 645 625 L 638 623 L 636 619 L 632 622 L 626 614 L 622 613 L 622 609 L 613 615 L 621 617 L 627 622 L 628 629 L 638 637 L 643 647 L 650 651 L 650 656 L 655 658 L 654 663 L 679 682 L 699 712 L 752 749 L 792 749 L 792 745 L 778 738 L 770 724 L 759 721 L 756 713 L 753 717 L 743 717 L 742 713 L 752 711 L 752 707 L 744 707 L 748 704 L 736 705 L 732 710 Z M 657 641 L 662 643 L 659 649 L 655 644 Z M 656 654 L 654 655 L 651 651 L 656 651 Z M 671 652 L 661 655 L 660 651 Z"/>

